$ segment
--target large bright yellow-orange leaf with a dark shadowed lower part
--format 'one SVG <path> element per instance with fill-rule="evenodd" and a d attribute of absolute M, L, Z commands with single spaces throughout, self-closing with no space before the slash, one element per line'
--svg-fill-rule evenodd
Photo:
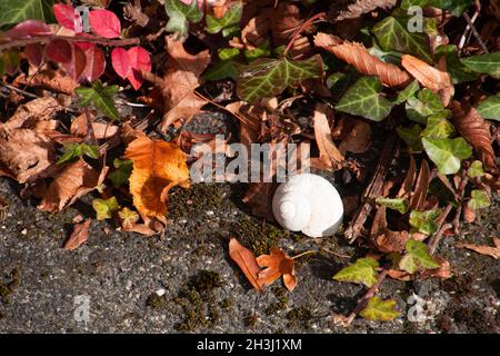
<path fill-rule="evenodd" d="M 166 224 L 169 189 L 189 188 L 186 154 L 174 144 L 143 137 L 128 146 L 126 157 L 133 162 L 129 179 L 133 205 L 144 220 L 157 218 Z"/>

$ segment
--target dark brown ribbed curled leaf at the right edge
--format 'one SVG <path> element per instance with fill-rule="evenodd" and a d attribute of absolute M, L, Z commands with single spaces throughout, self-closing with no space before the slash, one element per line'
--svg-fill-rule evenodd
<path fill-rule="evenodd" d="M 468 103 L 453 100 L 451 110 L 453 126 L 472 145 L 484 167 L 489 170 L 497 170 L 489 123 Z"/>

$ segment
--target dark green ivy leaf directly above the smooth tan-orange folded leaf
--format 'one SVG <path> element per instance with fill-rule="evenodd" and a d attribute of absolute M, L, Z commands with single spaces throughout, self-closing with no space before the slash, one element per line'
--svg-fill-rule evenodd
<path fill-rule="evenodd" d="M 390 16 L 377 23 L 372 31 L 380 47 L 384 51 L 410 53 L 432 62 L 427 34 L 409 32 L 408 20 L 408 16 Z"/>

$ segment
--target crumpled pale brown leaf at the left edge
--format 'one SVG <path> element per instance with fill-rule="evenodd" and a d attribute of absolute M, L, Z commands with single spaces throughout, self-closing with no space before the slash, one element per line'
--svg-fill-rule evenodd
<path fill-rule="evenodd" d="M 19 182 L 51 176 L 57 170 L 54 159 L 54 146 L 46 135 L 29 129 L 6 131 L 0 127 L 0 162 Z"/>

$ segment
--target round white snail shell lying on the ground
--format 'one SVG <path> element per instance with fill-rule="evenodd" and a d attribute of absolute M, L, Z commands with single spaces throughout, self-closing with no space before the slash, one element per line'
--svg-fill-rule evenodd
<path fill-rule="evenodd" d="M 287 230 L 321 237 L 337 233 L 342 224 L 343 206 L 339 192 L 327 179 L 301 174 L 278 187 L 272 212 Z"/>

